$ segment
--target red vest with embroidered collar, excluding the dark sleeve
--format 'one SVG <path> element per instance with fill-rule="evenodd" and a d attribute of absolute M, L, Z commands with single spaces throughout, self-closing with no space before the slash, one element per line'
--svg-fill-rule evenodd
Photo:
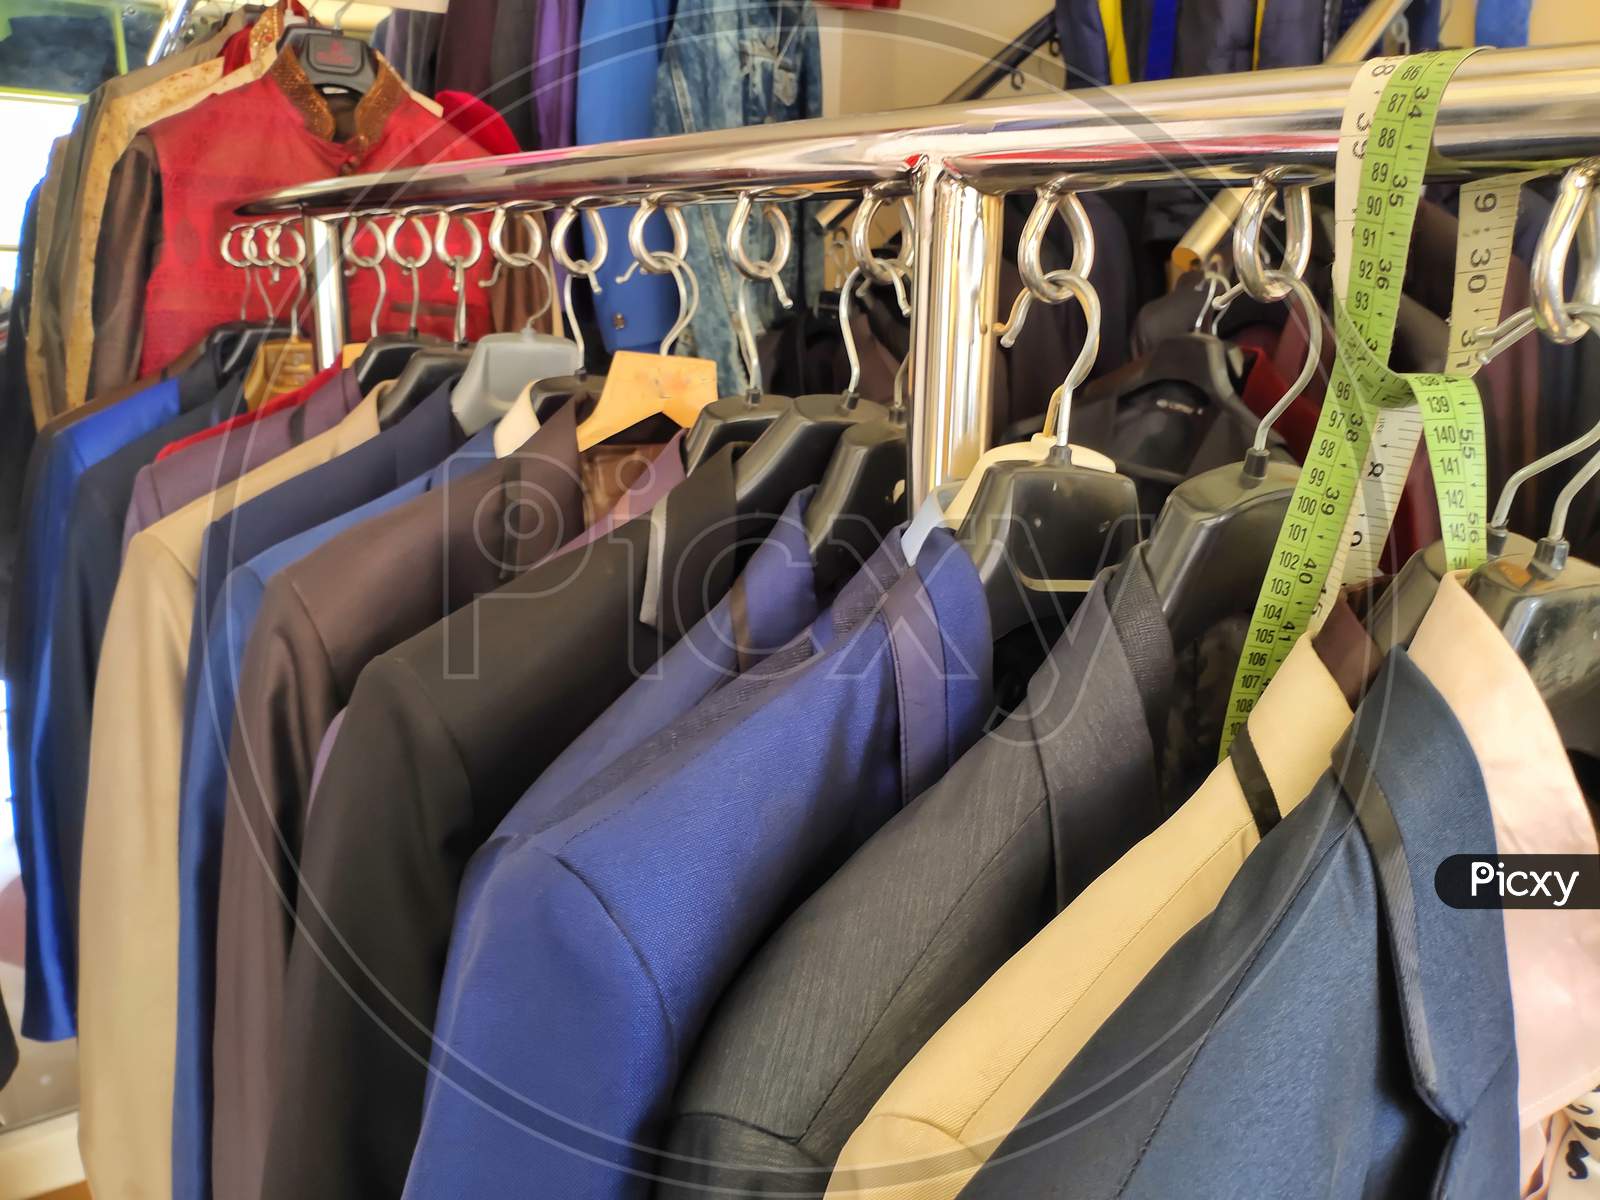
<path fill-rule="evenodd" d="M 280 54 L 254 83 L 211 96 L 146 131 L 155 144 L 162 174 L 162 245 L 144 288 L 141 376 L 160 371 L 216 325 L 238 318 L 245 272 L 222 259 L 221 242 L 222 234 L 240 219 L 234 214 L 240 202 L 259 192 L 338 174 L 483 155 L 475 141 L 411 99 L 400 77 L 382 64 L 355 109 L 354 136 L 334 142 L 333 131 L 326 101 L 310 86 L 293 53 Z M 435 218 L 427 218 L 426 224 L 432 234 Z M 403 232 L 398 242 L 403 254 L 418 253 L 414 230 Z M 370 234 L 360 237 L 357 251 L 370 256 Z M 264 251 L 264 238 L 258 238 L 258 246 Z M 293 256 L 298 248 L 288 235 L 280 243 L 280 254 Z M 469 250 L 469 238 L 453 230 L 450 251 L 462 254 Z M 237 235 L 234 253 L 238 253 Z M 490 267 L 491 256 L 485 246 L 478 264 L 467 272 L 469 338 L 491 330 L 488 291 L 478 286 L 488 278 Z M 384 274 L 389 290 L 378 326 L 389 333 L 403 331 L 411 312 L 411 275 L 387 259 Z M 251 275 L 266 285 L 272 312 L 286 318 L 298 293 L 294 272 L 283 270 L 277 283 L 267 272 Z M 421 269 L 418 325 L 422 333 L 440 338 L 454 334 L 456 294 L 451 283 L 453 274 L 437 254 Z M 365 341 L 378 301 L 376 275 L 358 269 L 344 277 L 344 286 L 346 334 Z M 250 282 L 246 317 L 267 317 L 254 278 Z"/>

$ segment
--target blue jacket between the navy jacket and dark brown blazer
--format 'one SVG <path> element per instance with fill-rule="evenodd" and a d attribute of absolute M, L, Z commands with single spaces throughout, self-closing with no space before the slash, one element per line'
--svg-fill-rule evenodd
<path fill-rule="evenodd" d="M 458 437 L 453 430 L 446 387 L 376 438 L 258 498 L 272 501 L 299 480 L 323 475 L 322 486 L 301 490 L 298 498 L 291 496 L 285 510 L 277 514 L 277 520 L 269 518 L 266 512 L 253 515 L 243 542 L 226 517 L 213 522 L 206 531 L 202 560 L 218 565 L 235 558 L 245 546 L 253 546 L 256 539 L 272 531 L 290 530 L 290 536 L 230 570 L 213 597 L 203 598 L 198 594 L 195 597 L 197 610 L 190 634 L 203 637 L 198 651 L 192 650 L 189 659 L 182 782 L 178 802 L 174 1200 L 203 1200 L 211 1195 L 211 1029 L 216 1008 L 216 910 L 221 886 L 222 818 L 227 805 L 227 747 L 234 733 L 240 666 L 256 624 L 256 613 L 261 611 L 261 597 L 274 574 L 323 542 L 381 512 L 400 507 L 413 496 L 430 491 L 458 472 L 462 462 L 494 456 L 493 427 L 490 427 L 440 464 L 438 459 L 450 453 Z M 429 461 L 437 464 L 432 470 L 424 470 L 365 504 L 331 515 L 307 530 L 293 531 L 293 525 L 325 510 L 326 506 L 352 499 L 363 491 L 371 493 L 373 486 L 390 480 L 398 470 Z M 331 467 L 342 467 L 342 478 L 334 478 L 339 472 L 330 470 Z"/>

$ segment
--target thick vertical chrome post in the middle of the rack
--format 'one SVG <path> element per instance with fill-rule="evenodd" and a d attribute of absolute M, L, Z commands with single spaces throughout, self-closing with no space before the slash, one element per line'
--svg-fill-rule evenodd
<path fill-rule="evenodd" d="M 989 446 L 1003 197 L 962 182 L 938 158 L 912 171 L 917 270 L 912 309 L 912 512 L 966 475 Z"/>

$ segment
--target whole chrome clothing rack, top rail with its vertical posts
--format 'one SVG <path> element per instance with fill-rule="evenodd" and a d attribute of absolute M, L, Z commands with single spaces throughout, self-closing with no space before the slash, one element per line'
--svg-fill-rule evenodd
<path fill-rule="evenodd" d="M 256 197 L 298 213 L 315 272 L 318 350 L 342 342 L 338 219 L 352 211 L 800 198 L 886 184 L 912 197 L 912 506 L 987 448 L 1002 198 L 1062 174 L 1080 190 L 1216 190 L 1269 166 L 1325 181 L 1355 66 L 1171 78 L 1093 91 L 578 146 L 328 179 Z M 1600 45 L 1494 50 L 1446 90 L 1430 178 L 1600 154 Z"/>

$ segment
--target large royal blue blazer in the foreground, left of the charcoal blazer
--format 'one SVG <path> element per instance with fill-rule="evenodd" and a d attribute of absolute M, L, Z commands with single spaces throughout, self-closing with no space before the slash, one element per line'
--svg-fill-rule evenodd
<path fill-rule="evenodd" d="M 659 1122 L 771 925 L 981 733 L 989 618 L 944 530 L 467 869 L 405 1195 L 648 1192 Z M 645 1173 L 645 1174 L 640 1174 Z"/>

